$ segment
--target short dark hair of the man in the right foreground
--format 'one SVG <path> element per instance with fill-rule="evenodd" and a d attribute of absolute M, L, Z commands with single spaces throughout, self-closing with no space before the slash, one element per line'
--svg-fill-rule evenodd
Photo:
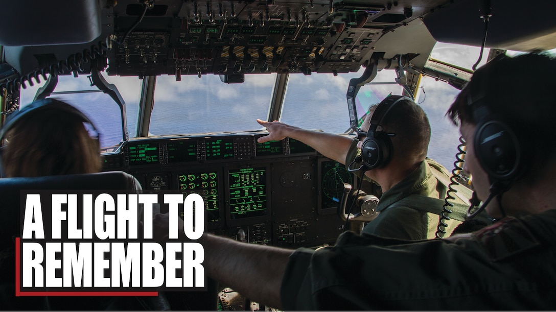
<path fill-rule="evenodd" d="M 495 59 L 479 68 L 461 90 L 446 115 L 458 125 L 477 124 L 468 104 L 471 92 L 481 90 L 493 118 L 514 130 L 523 150 L 534 155 L 535 170 L 554 158 L 548 138 L 556 133 L 556 59 L 544 53 Z"/>

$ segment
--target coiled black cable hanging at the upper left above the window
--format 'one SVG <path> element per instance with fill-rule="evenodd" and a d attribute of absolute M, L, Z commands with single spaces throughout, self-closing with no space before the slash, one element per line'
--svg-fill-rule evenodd
<path fill-rule="evenodd" d="M 106 46 L 106 43 L 100 41 L 97 44 L 91 46 L 90 49 L 85 49 L 80 53 L 72 54 L 62 61 L 50 64 L 49 66 L 45 66 L 43 68 L 36 69 L 35 71 L 28 73 L 27 75 L 22 75 L 0 84 L 0 92 L 6 90 L 8 94 L 13 95 L 19 87 L 26 89 L 26 83 L 28 83 L 32 87 L 34 85 L 33 79 L 36 83 L 41 83 L 41 76 L 42 79 L 46 80 L 47 74 L 56 77 L 72 72 L 83 72 L 83 64 L 87 64 L 93 60 L 96 60 L 98 57 L 105 59 L 106 66 L 107 50 L 108 48 Z"/>

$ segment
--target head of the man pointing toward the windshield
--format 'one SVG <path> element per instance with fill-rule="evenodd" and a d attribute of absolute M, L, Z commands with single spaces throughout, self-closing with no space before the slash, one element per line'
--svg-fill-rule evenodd
<path fill-rule="evenodd" d="M 395 101 L 388 103 L 389 99 L 395 99 Z M 376 111 L 377 107 L 384 109 L 384 105 L 391 105 L 391 108 L 387 111 Z M 425 159 L 430 141 L 430 124 L 419 105 L 410 98 L 391 95 L 381 103 L 371 106 L 369 112 L 361 124 L 361 131 L 368 132 L 371 122 L 378 124 L 375 138 L 379 144 L 385 143 L 381 150 L 384 155 L 383 159 L 379 160 L 378 165 L 371 166 L 370 169 L 384 168 L 393 163 L 393 160 L 395 165 L 407 164 L 408 167 L 411 167 Z M 376 116 L 377 112 L 381 116 Z M 362 132 L 360 132 L 362 135 L 359 136 L 358 147 L 362 149 L 362 153 L 365 153 L 364 143 L 367 141 L 365 141 L 366 135 Z M 389 146 L 390 144 L 391 146 Z M 365 160 L 365 157 L 363 159 Z"/>

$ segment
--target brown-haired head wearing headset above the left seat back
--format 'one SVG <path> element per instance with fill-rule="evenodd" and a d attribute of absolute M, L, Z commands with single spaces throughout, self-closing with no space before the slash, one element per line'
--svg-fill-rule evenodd
<path fill-rule="evenodd" d="M 101 169 L 92 122 L 71 105 L 38 100 L 8 116 L 0 130 L 5 177 L 93 173 Z M 91 130 L 90 129 L 90 130 Z"/>

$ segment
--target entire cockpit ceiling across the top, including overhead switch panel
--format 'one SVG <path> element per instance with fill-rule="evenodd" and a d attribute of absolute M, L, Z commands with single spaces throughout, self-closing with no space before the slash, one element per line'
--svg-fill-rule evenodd
<path fill-rule="evenodd" d="M 146 9 L 137 0 L 25 3 L 9 1 L 0 10 L 4 58 L 22 76 L 52 66 L 63 71 L 98 51 L 106 51 L 103 66 L 112 76 L 165 74 L 179 80 L 181 75 L 223 74 L 234 80 L 251 73 L 347 73 L 371 57 L 398 55 L 404 56 L 406 70 L 420 72 L 436 41 L 479 46 L 484 32 L 475 0 L 156 0 Z M 517 23 L 515 15 L 506 16 L 517 4 L 507 9 L 506 3 L 492 1 L 487 46 L 533 44 L 531 50 L 554 45 L 553 18 L 539 26 Z M 532 18 L 525 10 L 549 14 L 553 11 L 543 7 L 555 5 L 528 3 L 520 8 L 520 18 Z M 41 14 L 30 13 L 36 7 Z M 26 27 L 14 27 L 22 16 L 31 17 Z M 504 27 L 519 32 L 514 36 Z M 542 38 L 552 42 L 539 42 Z M 87 72 L 87 66 L 79 69 Z"/>

